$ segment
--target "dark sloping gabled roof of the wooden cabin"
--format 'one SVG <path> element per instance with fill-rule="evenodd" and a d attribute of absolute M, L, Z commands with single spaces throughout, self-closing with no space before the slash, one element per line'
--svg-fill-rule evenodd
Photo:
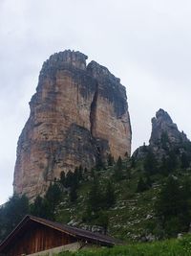
<path fill-rule="evenodd" d="M 117 244 L 117 240 L 114 238 L 102 235 L 99 233 L 94 233 L 88 230 L 76 228 L 67 224 L 61 224 L 54 221 L 48 221 L 45 219 L 37 218 L 31 215 L 27 215 L 11 232 L 11 234 L 0 244 L 0 253 L 4 248 L 10 246 L 11 242 L 19 235 L 23 230 L 27 230 L 27 226 L 32 224 L 32 222 L 37 222 L 46 226 L 49 226 L 53 229 L 56 229 L 60 232 L 66 233 L 70 236 L 75 237 L 77 240 L 87 241 L 93 244 L 101 244 L 106 246 L 113 246 Z M 26 231 L 27 232 L 27 231 Z"/>

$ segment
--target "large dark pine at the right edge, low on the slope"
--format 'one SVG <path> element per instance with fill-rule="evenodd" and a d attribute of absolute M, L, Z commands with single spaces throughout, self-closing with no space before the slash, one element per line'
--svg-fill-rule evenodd
<path fill-rule="evenodd" d="M 156 211 L 169 236 L 187 231 L 190 222 L 190 184 L 181 188 L 177 178 L 169 176 L 161 189 Z M 189 194 L 187 194 L 189 191 Z"/>

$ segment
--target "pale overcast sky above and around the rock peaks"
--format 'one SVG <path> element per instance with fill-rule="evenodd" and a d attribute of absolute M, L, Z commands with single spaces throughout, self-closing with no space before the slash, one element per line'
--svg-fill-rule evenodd
<path fill-rule="evenodd" d="M 165 109 L 191 138 L 190 0 L 0 0 L 0 203 L 44 60 L 77 50 L 127 88 L 133 151 Z"/>

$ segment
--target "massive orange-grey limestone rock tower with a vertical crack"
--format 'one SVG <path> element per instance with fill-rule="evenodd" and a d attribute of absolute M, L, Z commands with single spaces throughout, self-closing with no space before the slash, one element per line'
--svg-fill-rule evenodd
<path fill-rule="evenodd" d="M 44 62 L 31 114 L 17 146 L 13 187 L 34 198 L 62 171 L 91 168 L 131 152 L 125 87 L 109 70 L 79 52 Z"/>

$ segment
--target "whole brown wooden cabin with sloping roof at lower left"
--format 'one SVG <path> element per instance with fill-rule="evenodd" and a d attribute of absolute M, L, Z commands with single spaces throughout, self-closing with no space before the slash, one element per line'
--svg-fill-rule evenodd
<path fill-rule="evenodd" d="M 106 235 L 28 215 L 0 244 L 0 255 L 52 255 L 91 244 L 113 246 L 116 241 Z"/>

